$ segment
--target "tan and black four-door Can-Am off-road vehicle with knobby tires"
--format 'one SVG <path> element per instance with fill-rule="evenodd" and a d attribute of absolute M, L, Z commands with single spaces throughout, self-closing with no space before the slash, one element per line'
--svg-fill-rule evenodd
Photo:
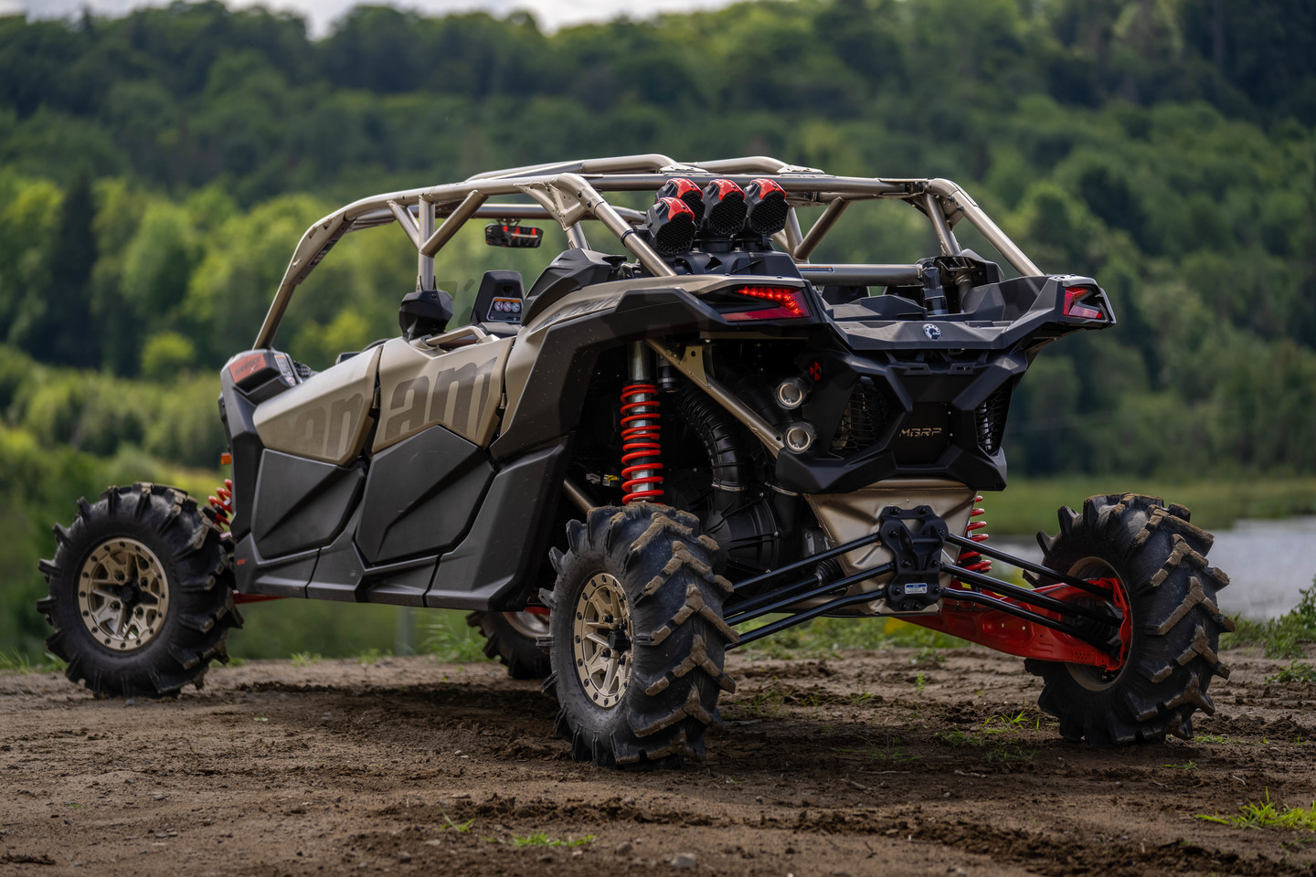
<path fill-rule="evenodd" d="M 809 260 L 883 199 L 940 251 Z M 490 271 L 450 327 L 433 259 L 471 220 L 509 247 L 557 222 L 570 249 L 528 287 Z M 1017 276 L 958 243 L 963 221 Z M 318 373 L 278 350 L 297 284 L 392 224 L 420 254 L 401 335 Z M 221 372 L 226 489 L 116 486 L 55 527 L 49 647 L 96 693 L 170 696 L 225 659 L 237 602 L 471 610 L 491 655 L 555 692 L 576 759 L 646 768 L 704 753 L 728 648 L 894 617 L 1028 659 L 1070 740 L 1187 736 L 1229 628 L 1187 509 L 1090 497 L 1038 535 L 1041 563 L 980 531 L 1016 384 L 1113 323 L 1095 280 L 1044 273 L 941 179 L 640 155 L 365 199 L 307 230 Z"/>

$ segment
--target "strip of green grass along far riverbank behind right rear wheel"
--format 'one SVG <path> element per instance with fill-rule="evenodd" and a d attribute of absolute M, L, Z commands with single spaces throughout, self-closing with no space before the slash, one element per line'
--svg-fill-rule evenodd
<path fill-rule="evenodd" d="M 1238 518 L 1287 518 L 1316 514 L 1316 477 L 1232 477 L 1178 481 L 1117 475 L 1015 479 L 1000 493 L 986 494 L 988 533 L 1030 536 L 1055 533 L 1055 510 L 1082 508 L 1096 493 L 1146 493 L 1192 510 L 1192 523 L 1224 530 Z"/>

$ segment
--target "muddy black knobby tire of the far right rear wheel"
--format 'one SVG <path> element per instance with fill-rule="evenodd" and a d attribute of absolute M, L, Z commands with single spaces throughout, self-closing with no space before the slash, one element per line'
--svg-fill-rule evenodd
<path fill-rule="evenodd" d="M 1191 525 L 1183 506 L 1133 493 L 1088 497 L 1082 513 L 1065 506 L 1058 517 L 1054 539 L 1037 534 L 1044 564 L 1075 575 L 1115 572 L 1129 601 L 1132 642 L 1116 673 L 1028 660 L 1045 682 L 1038 705 L 1071 742 L 1191 739 L 1192 714 L 1215 713 L 1211 677 L 1229 676 L 1217 651 L 1233 622 L 1216 605 L 1229 577 L 1207 563 L 1211 534 Z"/>

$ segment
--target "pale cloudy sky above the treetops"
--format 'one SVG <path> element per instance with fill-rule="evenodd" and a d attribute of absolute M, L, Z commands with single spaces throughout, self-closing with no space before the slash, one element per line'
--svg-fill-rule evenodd
<path fill-rule="evenodd" d="M 382 3 L 382 0 L 375 0 Z M 658 12 L 688 12 L 729 5 L 732 0 L 391 0 L 388 5 L 416 9 L 426 14 L 484 9 L 504 16 L 528 9 L 545 30 L 580 21 L 607 21 L 622 13 L 642 17 Z M 229 7 L 265 5 L 300 13 L 311 24 L 312 36 L 329 30 L 330 22 L 357 5 L 357 0 L 226 0 Z M 0 0 L 0 14 L 26 12 L 29 17 L 59 18 L 76 16 L 83 7 L 105 16 L 124 14 L 141 7 L 163 7 L 168 0 Z"/>

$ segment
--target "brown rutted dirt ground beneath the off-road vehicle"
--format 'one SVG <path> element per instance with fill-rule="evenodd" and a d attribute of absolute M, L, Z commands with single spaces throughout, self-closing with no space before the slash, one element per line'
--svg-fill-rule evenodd
<path fill-rule="evenodd" d="M 255 661 L 126 703 L 4 673 L 0 874 L 1316 872 L 1312 832 L 1195 818 L 1316 799 L 1316 688 L 1280 661 L 1228 653 L 1196 742 L 1096 751 L 1020 660 L 944 655 L 733 655 L 708 760 L 645 774 L 572 763 L 494 664 Z"/>

